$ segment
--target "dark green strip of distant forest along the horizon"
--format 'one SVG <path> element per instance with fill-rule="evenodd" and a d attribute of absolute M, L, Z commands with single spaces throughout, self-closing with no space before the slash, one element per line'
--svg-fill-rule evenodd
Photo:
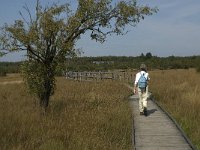
<path fill-rule="evenodd" d="M 0 74 L 19 73 L 23 62 L 0 62 Z M 141 63 L 153 69 L 188 69 L 197 68 L 200 71 L 200 56 L 187 57 L 157 57 L 151 53 L 140 56 L 101 56 L 101 57 L 75 57 L 66 59 L 66 71 L 108 71 L 115 69 L 138 69 Z M 57 71 L 62 74 L 63 71 Z"/>

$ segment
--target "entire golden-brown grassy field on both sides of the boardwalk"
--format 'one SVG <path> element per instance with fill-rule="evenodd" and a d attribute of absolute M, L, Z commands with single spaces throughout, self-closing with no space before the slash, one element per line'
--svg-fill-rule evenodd
<path fill-rule="evenodd" d="M 155 99 L 200 150 L 200 74 L 193 69 L 150 72 Z M 0 82 L 21 80 L 19 75 Z M 46 115 L 23 84 L 0 84 L 1 149 L 132 149 L 131 91 L 116 81 L 57 78 Z"/>

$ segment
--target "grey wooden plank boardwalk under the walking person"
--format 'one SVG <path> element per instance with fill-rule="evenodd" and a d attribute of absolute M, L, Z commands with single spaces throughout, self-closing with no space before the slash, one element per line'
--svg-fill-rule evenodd
<path fill-rule="evenodd" d="M 184 133 L 152 100 L 148 100 L 148 116 L 139 115 L 138 96 L 130 97 L 134 115 L 135 150 L 193 150 Z"/>

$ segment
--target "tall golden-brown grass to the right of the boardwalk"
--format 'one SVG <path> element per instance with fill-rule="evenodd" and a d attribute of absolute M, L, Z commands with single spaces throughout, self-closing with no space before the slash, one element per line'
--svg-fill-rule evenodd
<path fill-rule="evenodd" d="M 152 71 L 150 75 L 155 99 L 200 150 L 200 73 L 188 69 Z"/>

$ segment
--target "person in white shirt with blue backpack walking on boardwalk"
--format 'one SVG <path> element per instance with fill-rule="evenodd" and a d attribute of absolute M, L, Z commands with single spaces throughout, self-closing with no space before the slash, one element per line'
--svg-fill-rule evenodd
<path fill-rule="evenodd" d="M 134 94 L 139 96 L 140 115 L 147 116 L 148 81 L 150 80 L 145 64 L 140 65 L 140 71 L 135 76 Z"/>

